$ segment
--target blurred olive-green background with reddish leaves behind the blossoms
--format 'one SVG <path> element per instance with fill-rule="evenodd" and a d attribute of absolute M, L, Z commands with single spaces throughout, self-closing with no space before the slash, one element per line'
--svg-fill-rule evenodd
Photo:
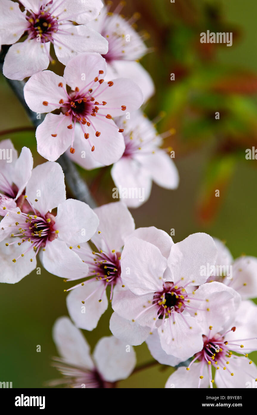
<path fill-rule="evenodd" d="M 115 4 L 115 2 L 114 2 Z M 149 117 L 166 112 L 159 132 L 175 128 L 165 146 L 175 150 L 180 173 L 178 190 L 153 186 L 151 197 L 132 210 L 136 227 L 154 225 L 175 242 L 193 232 L 225 239 L 234 258 L 257 256 L 255 160 L 245 149 L 257 147 L 257 2 L 253 0 L 130 0 L 122 13 L 140 12 L 138 30 L 146 30 L 149 48 L 142 59 L 156 85 L 145 107 Z M 201 32 L 233 32 L 233 45 L 200 44 Z M 62 74 L 62 66 L 55 71 Z M 170 81 L 175 73 L 175 81 Z M 0 130 L 29 127 L 30 122 L 5 79 L 0 77 Z M 220 120 L 214 114 L 220 112 Z M 1 134 L 20 151 L 29 146 L 34 166 L 44 161 L 36 153 L 33 131 Z M 79 169 L 99 205 L 113 201 L 110 168 Z M 214 190 L 220 190 L 215 198 Z M 40 264 L 38 264 L 40 265 Z M 55 320 L 67 315 L 62 278 L 42 269 L 15 285 L 0 286 L 0 374 L 13 387 L 42 388 L 58 372 L 50 366 L 57 352 L 51 337 Z M 84 332 L 93 349 L 99 337 L 110 335 L 111 308 L 92 332 Z M 36 352 L 37 345 L 41 352 Z M 151 361 L 145 345 L 135 348 L 138 364 Z M 251 354 L 257 363 L 257 353 Z M 163 388 L 172 369 L 156 366 L 118 383 L 122 388 Z"/>

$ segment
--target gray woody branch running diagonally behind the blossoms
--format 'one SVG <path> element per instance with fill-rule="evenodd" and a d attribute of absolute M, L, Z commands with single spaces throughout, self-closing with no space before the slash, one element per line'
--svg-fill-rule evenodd
<path fill-rule="evenodd" d="M 0 63 L 0 68 L 2 70 L 2 63 Z M 24 100 L 23 88 L 25 82 L 13 81 L 12 79 L 7 78 L 6 80 L 24 107 L 32 124 L 35 127 L 38 127 L 38 125 L 41 124 L 42 120 L 37 119 L 36 112 L 31 111 L 27 106 L 26 101 Z M 66 154 L 62 154 L 57 161 L 62 166 L 63 173 L 65 174 L 66 184 L 74 198 L 87 203 L 92 208 L 96 207 L 96 201 L 92 197 L 88 186 L 86 185 L 85 181 L 82 180 L 82 178 L 79 176 L 76 166 L 72 163 L 69 157 Z"/>

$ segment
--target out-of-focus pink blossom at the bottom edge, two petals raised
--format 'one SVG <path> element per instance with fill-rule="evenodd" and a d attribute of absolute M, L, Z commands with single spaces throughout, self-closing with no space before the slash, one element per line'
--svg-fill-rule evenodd
<path fill-rule="evenodd" d="M 82 332 L 67 317 L 60 317 L 55 322 L 53 339 L 62 356 L 55 358 L 54 366 L 64 378 L 51 381 L 51 386 L 113 388 L 115 382 L 130 376 L 136 364 L 133 347 L 127 351 L 126 343 L 113 336 L 98 340 L 91 356 Z"/>

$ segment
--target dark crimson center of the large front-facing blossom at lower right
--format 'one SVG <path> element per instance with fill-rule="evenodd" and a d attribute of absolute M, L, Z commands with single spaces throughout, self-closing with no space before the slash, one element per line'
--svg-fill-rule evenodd
<path fill-rule="evenodd" d="M 158 317 L 165 318 L 173 312 L 182 313 L 185 310 L 187 293 L 185 288 L 174 285 L 173 282 L 163 283 L 163 291 L 154 293 L 153 304 L 158 308 Z"/>

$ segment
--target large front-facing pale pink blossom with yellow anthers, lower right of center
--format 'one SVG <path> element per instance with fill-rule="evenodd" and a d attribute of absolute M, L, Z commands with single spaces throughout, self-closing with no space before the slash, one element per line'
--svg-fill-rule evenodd
<path fill-rule="evenodd" d="M 225 324 L 226 310 L 240 303 L 232 288 L 218 282 L 206 284 L 208 277 L 200 275 L 200 266 L 214 264 L 216 255 L 213 239 L 204 233 L 173 244 L 159 229 L 136 229 L 122 251 L 126 291 L 121 284 L 115 286 L 113 310 L 138 326 L 149 327 L 149 334 L 157 328 L 163 350 L 188 359 L 202 349 L 202 327 L 214 316 L 217 324 Z M 199 288 L 191 293 L 190 286 L 195 285 Z M 111 326 L 116 335 L 117 327 Z"/>

